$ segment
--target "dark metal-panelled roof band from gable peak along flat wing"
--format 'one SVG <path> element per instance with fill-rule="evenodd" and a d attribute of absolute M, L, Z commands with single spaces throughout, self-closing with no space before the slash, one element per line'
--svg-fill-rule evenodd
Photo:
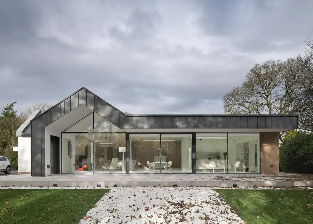
<path fill-rule="evenodd" d="M 272 129 L 286 131 L 298 128 L 298 115 L 266 114 L 131 114 L 124 113 L 85 87 L 64 98 L 40 115 L 47 116 L 47 126 L 84 104 L 100 116 L 122 129 Z M 33 121 L 33 118 L 31 121 Z M 278 130 L 279 129 L 279 130 Z"/>

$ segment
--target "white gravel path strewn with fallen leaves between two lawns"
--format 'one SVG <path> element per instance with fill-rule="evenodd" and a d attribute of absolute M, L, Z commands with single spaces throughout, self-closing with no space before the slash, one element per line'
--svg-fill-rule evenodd
<path fill-rule="evenodd" d="M 244 223 L 220 195 L 200 187 L 118 187 L 80 220 L 83 223 Z"/>

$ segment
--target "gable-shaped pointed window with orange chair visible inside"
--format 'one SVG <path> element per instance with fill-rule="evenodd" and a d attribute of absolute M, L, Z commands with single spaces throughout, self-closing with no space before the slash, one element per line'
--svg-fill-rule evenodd
<path fill-rule="evenodd" d="M 125 153 L 125 132 L 94 112 L 62 133 L 62 173 L 125 173 Z"/>

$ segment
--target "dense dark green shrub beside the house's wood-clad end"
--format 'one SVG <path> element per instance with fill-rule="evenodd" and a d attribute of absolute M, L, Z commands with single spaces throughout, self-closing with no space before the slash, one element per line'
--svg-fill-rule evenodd
<path fill-rule="evenodd" d="M 313 173 L 313 135 L 297 133 L 280 148 L 282 172 Z"/>

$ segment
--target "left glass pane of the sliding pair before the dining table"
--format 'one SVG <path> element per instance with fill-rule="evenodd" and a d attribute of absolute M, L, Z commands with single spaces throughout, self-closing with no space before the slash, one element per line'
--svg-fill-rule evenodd
<path fill-rule="evenodd" d="M 160 173 L 160 135 L 129 135 L 129 172 Z"/>

